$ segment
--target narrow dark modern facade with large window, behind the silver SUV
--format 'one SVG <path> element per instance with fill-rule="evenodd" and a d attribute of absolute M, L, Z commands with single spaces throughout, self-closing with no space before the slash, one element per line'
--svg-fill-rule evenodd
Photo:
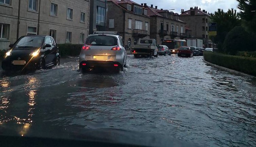
<path fill-rule="evenodd" d="M 89 34 L 93 31 L 106 31 L 107 0 L 90 0 Z"/>

